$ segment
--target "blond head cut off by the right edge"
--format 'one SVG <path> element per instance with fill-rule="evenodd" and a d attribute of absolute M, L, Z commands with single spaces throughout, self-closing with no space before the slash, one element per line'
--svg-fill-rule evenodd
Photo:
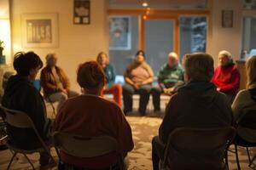
<path fill-rule="evenodd" d="M 256 55 L 253 55 L 246 62 L 247 88 L 256 88 Z"/>

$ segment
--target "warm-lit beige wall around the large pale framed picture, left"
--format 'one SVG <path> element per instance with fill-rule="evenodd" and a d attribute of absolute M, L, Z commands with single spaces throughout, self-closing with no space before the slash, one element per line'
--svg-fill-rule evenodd
<path fill-rule="evenodd" d="M 58 55 L 58 65 L 67 72 L 72 88 L 79 90 L 76 71 L 80 63 L 95 59 L 100 51 L 108 52 L 108 0 L 90 1 L 90 25 L 73 25 L 73 0 L 12 0 L 13 54 L 32 50 L 43 59 L 49 52 Z M 23 48 L 21 14 L 58 14 L 59 46 L 57 48 Z"/>

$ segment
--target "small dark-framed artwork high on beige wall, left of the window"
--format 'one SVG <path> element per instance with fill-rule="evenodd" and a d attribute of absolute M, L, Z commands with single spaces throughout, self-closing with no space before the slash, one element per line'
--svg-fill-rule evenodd
<path fill-rule="evenodd" d="M 73 1 L 73 24 L 90 24 L 90 0 Z"/>

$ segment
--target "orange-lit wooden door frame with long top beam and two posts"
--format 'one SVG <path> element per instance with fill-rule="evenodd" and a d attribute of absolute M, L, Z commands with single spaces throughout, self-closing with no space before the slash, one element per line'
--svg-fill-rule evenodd
<path fill-rule="evenodd" d="M 206 16 L 209 9 L 108 9 L 108 15 L 137 15 L 139 17 L 139 47 L 145 48 L 145 20 L 174 20 L 173 51 L 179 54 L 179 23 L 180 16 Z"/>

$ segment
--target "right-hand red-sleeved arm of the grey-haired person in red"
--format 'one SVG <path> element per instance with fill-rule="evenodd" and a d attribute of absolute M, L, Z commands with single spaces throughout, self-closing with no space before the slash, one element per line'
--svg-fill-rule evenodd
<path fill-rule="evenodd" d="M 236 69 L 232 72 L 232 75 L 230 77 L 230 83 L 218 88 L 221 92 L 227 92 L 233 89 L 238 89 L 239 85 L 240 85 L 240 73 Z"/>

